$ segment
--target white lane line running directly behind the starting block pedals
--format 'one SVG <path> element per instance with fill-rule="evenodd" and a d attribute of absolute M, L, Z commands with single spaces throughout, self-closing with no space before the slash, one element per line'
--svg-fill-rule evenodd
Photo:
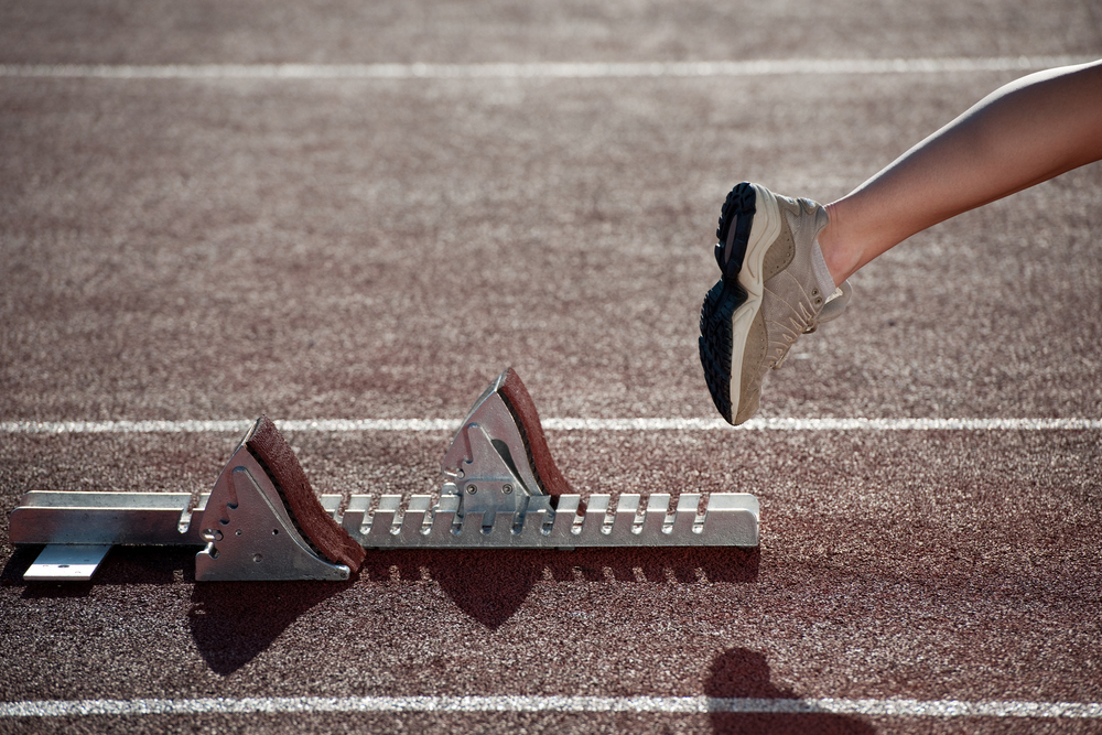
<path fill-rule="evenodd" d="M 7 421 L 0 434 L 244 433 L 251 421 Z M 277 421 L 281 431 L 454 432 L 444 419 L 326 419 Z M 1098 431 L 1100 419 L 752 419 L 730 426 L 721 419 L 545 419 L 548 431 Z"/>

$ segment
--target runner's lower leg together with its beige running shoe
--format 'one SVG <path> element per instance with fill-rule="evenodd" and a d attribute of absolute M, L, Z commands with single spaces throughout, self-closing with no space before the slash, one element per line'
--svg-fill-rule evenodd
<path fill-rule="evenodd" d="M 754 415 L 765 371 L 845 309 L 845 279 L 876 256 L 1099 159 L 1102 62 L 1006 85 L 827 207 L 738 184 L 716 231 L 722 277 L 701 306 L 700 359 L 716 409 L 734 424 Z"/>

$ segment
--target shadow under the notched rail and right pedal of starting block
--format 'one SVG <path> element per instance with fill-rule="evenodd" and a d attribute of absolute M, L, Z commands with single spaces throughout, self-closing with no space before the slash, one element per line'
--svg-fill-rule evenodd
<path fill-rule="evenodd" d="M 369 553 L 365 580 L 435 581 L 464 613 L 496 630 L 520 608 L 538 581 L 696 582 L 757 581 L 757 549 L 577 549 L 388 551 Z"/>

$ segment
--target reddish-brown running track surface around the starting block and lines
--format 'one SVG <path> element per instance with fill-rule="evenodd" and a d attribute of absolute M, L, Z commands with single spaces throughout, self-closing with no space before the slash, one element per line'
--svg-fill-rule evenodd
<path fill-rule="evenodd" d="M 0 3 L 0 62 L 1102 54 L 1078 0 Z M 0 78 L 0 421 L 712 418 L 742 179 L 830 199 L 1016 73 Z M 1102 417 L 1102 169 L 912 238 L 766 417 Z M 418 694 L 1102 702 L 1098 431 L 548 432 L 588 493 L 741 489 L 742 552 L 372 552 L 215 584 L 116 549 L 24 584 L 32 488 L 208 490 L 236 432 L 0 435 L 0 699 Z M 288 432 L 313 487 L 439 487 L 449 431 Z M 0 721 L 2 732 L 1082 733 L 1099 721 L 627 713 Z"/>

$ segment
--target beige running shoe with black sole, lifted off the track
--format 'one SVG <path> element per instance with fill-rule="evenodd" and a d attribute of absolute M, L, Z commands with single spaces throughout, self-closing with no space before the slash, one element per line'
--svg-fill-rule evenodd
<path fill-rule="evenodd" d="M 723 204 L 715 260 L 723 271 L 700 310 L 700 361 L 715 408 L 738 425 L 757 413 L 761 378 L 802 334 L 845 311 L 813 247 L 830 218 L 821 204 L 743 182 Z"/>

